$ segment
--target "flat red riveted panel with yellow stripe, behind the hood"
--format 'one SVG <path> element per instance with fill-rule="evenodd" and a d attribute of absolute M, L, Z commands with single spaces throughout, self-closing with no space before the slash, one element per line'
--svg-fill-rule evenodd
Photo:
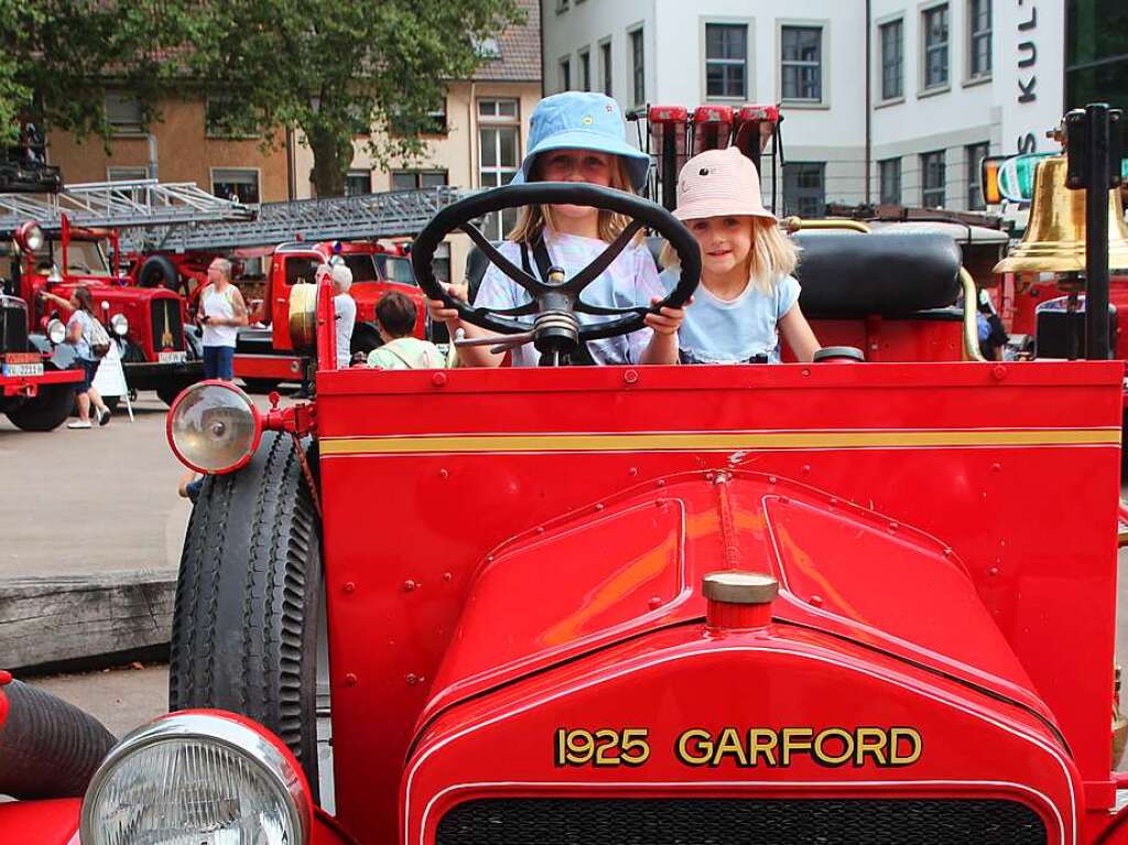
<path fill-rule="evenodd" d="M 637 484 L 730 468 L 797 479 L 950 546 L 1089 794 L 1111 798 L 1121 376 L 1119 362 L 319 373 L 341 818 L 391 829 L 390 762 L 491 549 Z M 858 431 L 869 444 L 843 444 Z M 714 439 L 660 439 L 686 432 Z M 781 432 L 807 439 L 764 440 Z M 543 589 L 569 580 L 572 561 L 538 563 Z"/>

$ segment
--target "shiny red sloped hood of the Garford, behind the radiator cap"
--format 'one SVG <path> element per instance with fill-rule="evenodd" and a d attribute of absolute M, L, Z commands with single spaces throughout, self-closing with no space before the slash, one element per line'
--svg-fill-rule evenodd
<path fill-rule="evenodd" d="M 784 478 L 687 473 L 503 544 L 482 564 L 421 723 L 519 678 L 704 619 L 702 576 L 770 572 L 773 617 L 1052 715 L 942 540 Z"/>

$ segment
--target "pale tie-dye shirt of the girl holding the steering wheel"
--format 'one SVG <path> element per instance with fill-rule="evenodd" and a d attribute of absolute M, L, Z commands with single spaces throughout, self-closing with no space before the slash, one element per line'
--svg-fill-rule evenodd
<path fill-rule="evenodd" d="M 607 244 L 597 238 L 583 238 L 579 235 L 554 235 L 552 232 L 546 235 L 545 246 L 548 248 L 548 257 L 553 264 L 564 267 L 569 278 L 588 266 L 607 248 Z M 518 244 L 506 240 L 499 245 L 497 252 L 517 266 L 521 266 L 521 247 Z M 529 249 L 529 264 L 532 274 L 539 275 L 531 248 Z M 650 300 L 654 297 L 662 297 L 658 267 L 650 250 L 641 244 L 628 245 L 607 270 L 580 294 L 584 302 L 605 308 L 649 307 Z M 474 300 L 474 307 L 515 308 L 529 300 L 530 297 L 523 288 L 491 264 L 482 279 L 482 287 Z M 590 314 L 576 316 L 580 318 L 581 325 L 592 325 L 611 319 Z M 532 325 L 532 317 L 513 317 L 511 319 Z M 638 363 L 652 336 L 653 332 L 650 328 L 641 328 L 618 337 L 601 337 L 589 341 L 588 350 L 596 363 Z M 539 360 L 540 353 L 534 349 L 531 343 L 526 343 L 513 350 L 511 363 L 513 367 L 536 367 Z"/>

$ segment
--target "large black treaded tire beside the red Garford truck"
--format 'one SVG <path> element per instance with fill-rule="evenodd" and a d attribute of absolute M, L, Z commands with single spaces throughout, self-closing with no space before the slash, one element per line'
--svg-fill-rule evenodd
<path fill-rule="evenodd" d="M 169 710 L 220 707 L 274 731 L 317 792 L 320 530 L 289 434 L 204 479 L 184 539 Z"/>

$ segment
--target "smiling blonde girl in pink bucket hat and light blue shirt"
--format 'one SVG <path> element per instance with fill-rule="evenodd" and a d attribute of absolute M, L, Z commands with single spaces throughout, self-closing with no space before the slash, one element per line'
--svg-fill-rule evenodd
<path fill-rule="evenodd" d="M 810 361 L 819 342 L 799 308 L 795 247 L 764 208 L 752 162 L 735 147 L 689 159 L 673 215 L 702 250 L 700 285 L 678 329 L 682 363 L 778 362 L 781 334 L 800 361 Z M 672 290 L 680 269 L 669 246 L 662 264 Z"/>

